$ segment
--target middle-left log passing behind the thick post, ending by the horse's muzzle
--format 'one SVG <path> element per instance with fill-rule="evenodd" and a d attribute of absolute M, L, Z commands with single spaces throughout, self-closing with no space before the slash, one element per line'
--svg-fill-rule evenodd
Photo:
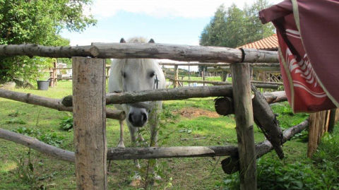
<path fill-rule="evenodd" d="M 32 95 L 30 93 L 18 93 L 11 90 L 0 89 L 0 97 L 4 97 L 9 100 L 16 100 L 18 102 L 24 102 L 30 105 L 49 107 L 52 109 L 57 109 L 59 111 L 73 112 L 73 107 L 71 107 L 72 102 L 70 102 L 70 105 L 65 106 L 61 103 L 62 100 L 43 97 L 39 95 Z M 125 112 L 120 110 L 106 109 L 106 112 L 107 118 L 110 119 L 124 120 L 126 118 Z"/>

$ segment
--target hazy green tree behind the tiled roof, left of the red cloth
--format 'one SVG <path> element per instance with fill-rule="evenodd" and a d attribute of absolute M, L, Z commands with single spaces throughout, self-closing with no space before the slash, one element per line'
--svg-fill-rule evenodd
<path fill-rule="evenodd" d="M 223 5 L 220 6 L 201 32 L 200 44 L 239 47 L 273 35 L 273 25 L 262 25 L 258 18 L 258 11 L 268 7 L 268 1 L 256 0 L 251 7 L 246 5 L 244 7 L 241 10 L 232 4 L 225 10 Z"/>

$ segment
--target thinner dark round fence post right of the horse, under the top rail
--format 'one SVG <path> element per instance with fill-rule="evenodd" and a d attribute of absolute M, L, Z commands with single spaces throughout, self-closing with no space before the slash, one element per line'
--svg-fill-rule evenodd
<path fill-rule="evenodd" d="M 256 189 L 256 150 L 249 64 L 231 65 L 240 189 Z"/>

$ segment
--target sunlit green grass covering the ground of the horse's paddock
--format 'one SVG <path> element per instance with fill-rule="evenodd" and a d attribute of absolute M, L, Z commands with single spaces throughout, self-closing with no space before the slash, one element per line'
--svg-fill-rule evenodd
<path fill-rule="evenodd" d="M 50 88 L 47 91 L 28 89 L 16 89 L 16 91 L 61 98 L 71 94 L 71 81 L 61 81 L 57 87 Z M 54 109 L 27 105 L 2 98 L 0 98 L 0 104 L 1 128 L 39 138 L 40 141 L 51 143 L 54 146 L 57 145 L 66 150 L 74 150 L 73 131 L 64 131 L 60 128 L 61 122 L 65 118 L 71 117 L 70 113 L 58 112 Z M 205 110 L 210 113 L 215 112 L 213 98 L 164 102 L 164 111 L 160 117 L 159 143 L 161 146 L 222 146 L 237 143 L 233 115 L 213 118 L 203 115 L 200 117 L 183 117 L 179 112 L 190 109 Z M 290 107 L 286 103 L 273 105 L 273 110 L 279 114 L 278 119 L 283 128 L 298 124 L 307 118 L 307 114 L 292 114 Z M 149 138 L 146 131 L 143 131 L 143 133 L 144 138 Z M 254 130 L 254 135 L 256 142 L 264 140 L 263 134 L 257 128 Z M 131 141 L 127 127 L 124 128 L 124 136 L 125 145 L 130 146 Z M 331 138 L 335 138 L 335 141 L 338 142 L 338 138 Z M 334 164 L 337 164 L 337 162 L 334 161 L 338 160 L 338 158 L 333 157 L 333 155 L 335 153 L 338 155 L 337 149 L 331 149 L 331 154 L 326 155 L 326 148 L 339 146 L 337 144 L 325 146 L 323 153 L 317 153 L 319 154 L 318 158 L 311 160 L 306 157 L 307 143 L 300 141 L 300 139 L 300 137 L 293 138 L 292 141 L 285 143 L 283 150 L 286 158 L 283 161 L 279 161 L 275 153 L 268 153 L 258 161 L 258 184 L 268 181 L 265 177 L 268 173 L 275 171 L 274 168 L 278 168 L 276 170 L 278 173 L 285 172 L 286 174 L 292 171 L 292 167 L 296 168 L 292 172 L 301 170 L 305 175 L 312 170 L 331 171 L 326 174 L 325 178 L 320 172 L 310 173 L 311 178 L 298 179 L 302 183 L 307 184 L 309 179 L 314 179 L 312 182 L 319 180 L 323 184 L 333 182 L 326 182 L 325 179 L 328 179 L 330 174 L 337 173 L 328 168 L 326 170 L 318 169 L 317 163 L 323 163 L 323 167 L 335 167 Z M 117 146 L 118 140 L 119 123 L 115 120 L 107 119 L 108 147 Z M 333 143 L 333 140 L 331 142 Z M 29 151 L 29 148 L 2 139 L 0 139 L 0 153 L 0 189 L 76 188 L 75 168 L 72 163 L 59 161 L 35 150 Z M 29 156 L 28 153 L 30 153 Z M 326 165 L 328 160 L 332 158 L 334 161 L 332 160 L 331 162 L 333 163 Z M 158 160 L 158 167 L 163 180 L 160 182 L 160 186 L 155 189 L 237 189 L 237 179 L 239 177 L 222 172 L 220 161 L 223 159 L 224 157 L 160 159 Z M 140 160 L 140 162 L 143 169 L 145 169 L 147 160 Z M 133 176 L 132 166 L 133 161 L 131 160 L 112 161 L 108 175 L 109 189 L 136 189 L 129 186 Z M 266 171 L 266 168 L 269 168 L 269 170 Z M 23 171 L 26 171 L 25 173 L 31 176 L 23 175 Z M 142 175 L 144 173 L 141 172 Z M 273 175 L 269 178 L 272 180 L 277 179 Z M 292 173 L 287 179 L 282 180 L 292 178 L 297 178 L 297 175 Z M 296 182 L 295 185 L 299 185 L 299 182 Z M 324 186 L 321 188 L 326 189 Z"/>

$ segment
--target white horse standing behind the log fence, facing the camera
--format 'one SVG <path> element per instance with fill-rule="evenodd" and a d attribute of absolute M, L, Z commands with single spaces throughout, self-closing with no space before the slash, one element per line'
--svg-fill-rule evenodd
<path fill-rule="evenodd" d="M 125 43 L 121 38 L 121 43 Z M 132 43 L 145 42 L 143 38 L 133 38 Z M 154 43 L 150 39 L 148 43 Z M 113 92 L 129 92 L 139 90 L 153 90 L 166 87 L 165 75 L 160 65 L 154 59 L 114 59 L 109 73 L 108 90 Z M 132 146 L 136 146 L 137 132 L 147 121 L 150 124 L 150 135 L 152 144 L 157 146 L 157 112 L 162 108 L 162 102 L 142 102 L 141 104 L 114 105 L 117 109 L 126 112 L 126 123 L 129 126 Z M 120 124 L 120 139 L 118 147 L 124 147 L 123 121 Z M 141 136 L 139 136 L 142 139 Z M 136 167 L 140 168 L 135 160 Z"/>

